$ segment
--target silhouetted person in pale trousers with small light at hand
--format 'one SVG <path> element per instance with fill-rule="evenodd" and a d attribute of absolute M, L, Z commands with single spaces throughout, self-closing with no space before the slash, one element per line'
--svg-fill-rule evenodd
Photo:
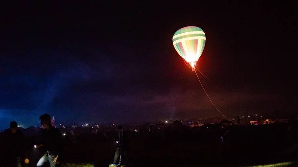
<path fill-rule="evenodd" d="M 37 147 L 43 146 L 45 154 L 39 159 L 37 167 L 45 165 L 49 162 L 51 167 L 60 167 L 60 159 L 63 150 L 62 135 L 58 128 L 51 125 L 51 117 L 49 114 L 43 114 L 39 118 L 42 130 L 42 141 Z"/>

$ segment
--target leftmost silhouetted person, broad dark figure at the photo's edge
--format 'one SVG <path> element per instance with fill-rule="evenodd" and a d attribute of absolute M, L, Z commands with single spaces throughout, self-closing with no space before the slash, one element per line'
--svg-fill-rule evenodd
<path fill-rule="evenodd" d="M 17 122 L 10 122 L 9 129 L 3 132 L 5 159 L 9 167 L 21 167 L 29 163 L 26 156 L 26 137 L 17 127 Z"/>

